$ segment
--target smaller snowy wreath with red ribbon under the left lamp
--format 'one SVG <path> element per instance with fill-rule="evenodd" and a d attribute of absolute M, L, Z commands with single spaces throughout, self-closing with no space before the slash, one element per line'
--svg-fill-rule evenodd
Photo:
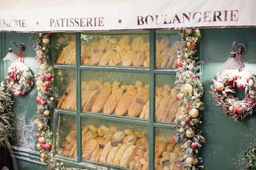
<path fill-rule="evenodd" d="M 14 92 L 16 97 L 26 95 L 31 91 L 34 76 L 30 68 L 22 62 L 14 62 L 7 70 L 5 77 L 7 88 Z"/>

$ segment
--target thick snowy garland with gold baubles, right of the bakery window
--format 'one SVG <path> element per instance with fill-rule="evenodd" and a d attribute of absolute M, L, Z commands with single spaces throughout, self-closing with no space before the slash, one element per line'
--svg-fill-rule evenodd
<path fill-rule="evenodd" d="M 202 61 L 195 57 L 196 42 L 201 37 L 199 29 L 186 29 L 181 32 L 181 42 L 178 44 L 177 63 L 179 69 L 176 74 L 176 81 L 179 93 L 176 98 L 179 100 L 180 116 L 174 126 L 175 135 L 173 140 L 180 146 L 184 156 L 177 160 L 180 164 L 178 168 L 185 170 L 204 170 L 201 165 L 202 158 L 198 157 L 202 143 L 205 142 L 202 131 L 199 129 L 201 115 L 199 110 L 204 109 L 203 102 L 200 101 L 204 89 L 198 78 Z"/>

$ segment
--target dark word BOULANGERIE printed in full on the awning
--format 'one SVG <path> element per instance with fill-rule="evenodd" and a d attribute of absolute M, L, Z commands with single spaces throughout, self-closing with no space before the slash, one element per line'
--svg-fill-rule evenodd
<path fill-rule="evenodd" d="M 151 24 L 174 24 L 186 22 L 222 22 L 238 21 L 238 10 L 229 11 L 204 11 L 195 13 L 179 13 L 170 15 L 147 15 L 137 16 L 137 25 Z"/>

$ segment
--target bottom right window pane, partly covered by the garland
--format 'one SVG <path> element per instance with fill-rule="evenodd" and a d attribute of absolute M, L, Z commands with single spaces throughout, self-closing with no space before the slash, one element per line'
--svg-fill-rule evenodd
<path fill-rule="evenodd" d="M 173 131 L 166 128 L 155 128 L 155 170 L 184 170 L 177 168 L 177 159 L 183 157 L 179 145 L 173 141 Z"/>

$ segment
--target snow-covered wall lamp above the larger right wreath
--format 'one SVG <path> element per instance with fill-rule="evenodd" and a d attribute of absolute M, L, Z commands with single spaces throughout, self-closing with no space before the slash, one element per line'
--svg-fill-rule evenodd
<path fill-rule="evenodd" d="M 244 44 L 237 44 L 235 41 L 229 59 L 221 67 L 232 70 L 245 68 L 245 65 L 240 62 L 240 55 L 245 53 L 245 51 L 246 46 Z"/>

